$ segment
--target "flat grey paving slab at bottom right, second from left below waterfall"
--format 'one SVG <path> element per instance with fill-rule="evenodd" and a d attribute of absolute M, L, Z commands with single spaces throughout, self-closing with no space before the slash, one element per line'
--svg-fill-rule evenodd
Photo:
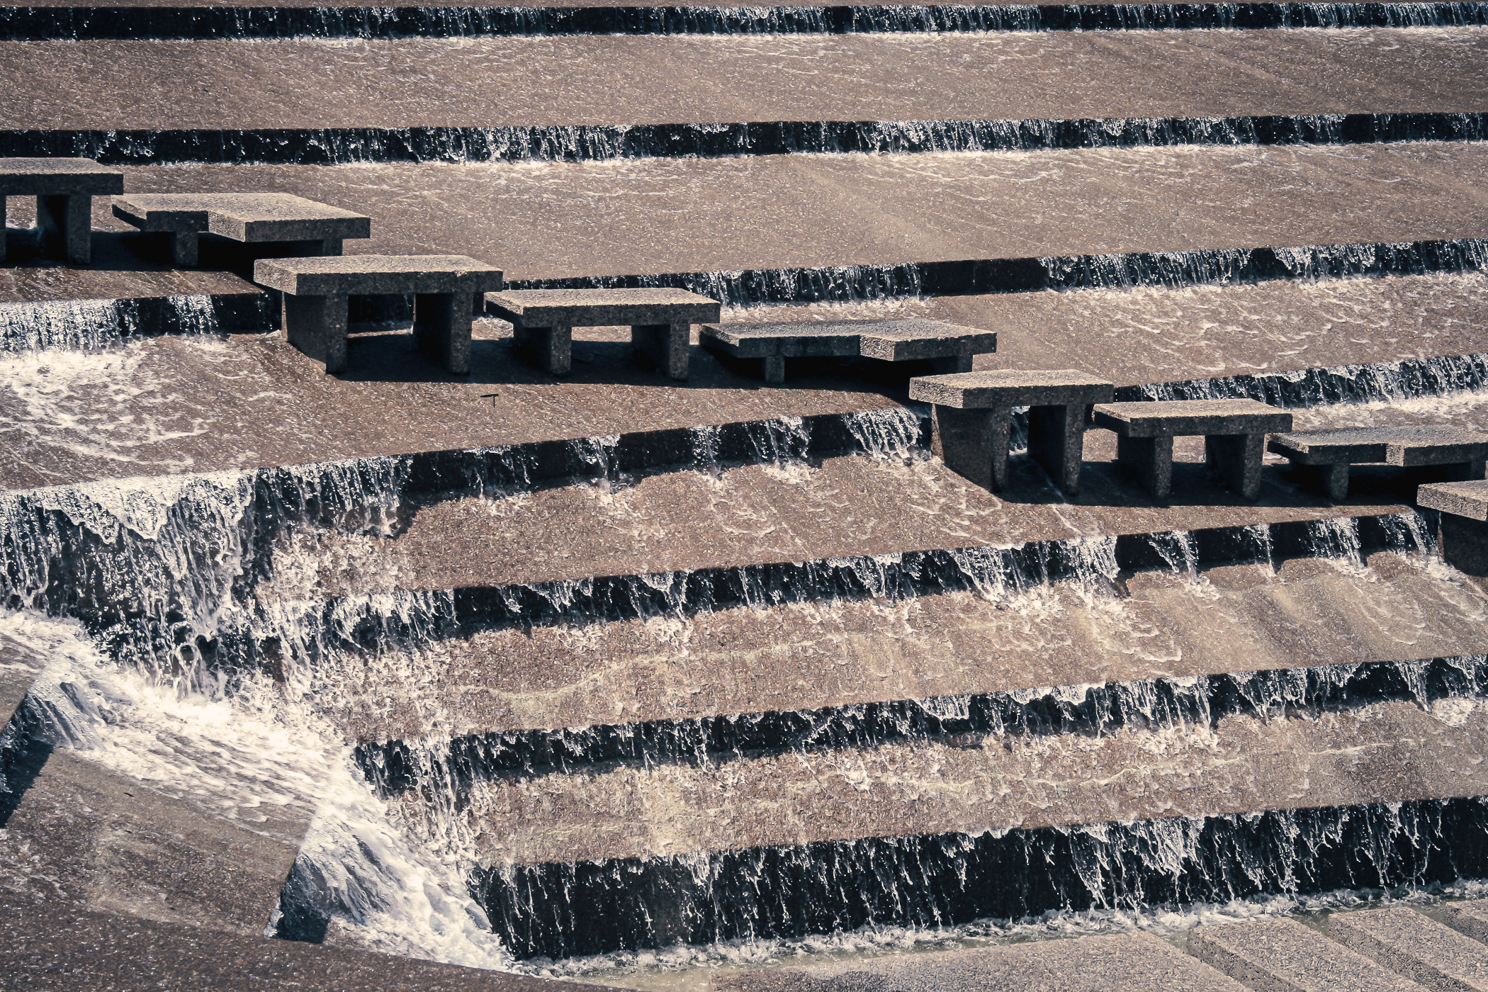
<path fill-rule="evenodd" d="M 1198 927 L 1189 953 L 1257 992 L 1421 992 L 1295 919 Z"/>

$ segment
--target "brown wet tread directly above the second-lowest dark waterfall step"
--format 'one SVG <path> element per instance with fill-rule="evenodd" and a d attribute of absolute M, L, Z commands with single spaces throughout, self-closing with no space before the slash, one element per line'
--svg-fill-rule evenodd
<path fill-rule="evenodd" d="M 494 631 L 335 656 L 317 698 L 347 736 L 387 741 L 1488 651 L 1482 589 L 1370 561 Z"/>

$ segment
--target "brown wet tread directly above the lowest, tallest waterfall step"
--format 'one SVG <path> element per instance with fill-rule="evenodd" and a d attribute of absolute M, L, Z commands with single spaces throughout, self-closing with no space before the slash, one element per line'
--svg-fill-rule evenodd
<path fill-rule="evenodd" d="M 1481 796 L 1488 712 L 1440 705 L 481 779 L 457 822 L 493 866 Z"/>

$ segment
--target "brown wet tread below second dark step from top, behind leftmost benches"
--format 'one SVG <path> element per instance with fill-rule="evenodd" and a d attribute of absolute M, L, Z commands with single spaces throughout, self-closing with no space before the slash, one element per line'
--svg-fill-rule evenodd
<path fill-rule="evenodd" d="M 307 196 L 376 219 L 353 254 L 461 253 L 509 280 L 1488 233 L 1488 144 L 1469 143 L 165 165 L 128 181 Z"/>

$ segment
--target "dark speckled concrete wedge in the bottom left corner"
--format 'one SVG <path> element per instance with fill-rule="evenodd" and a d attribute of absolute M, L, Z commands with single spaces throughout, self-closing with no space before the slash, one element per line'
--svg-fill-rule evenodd
<path fill-rule="evenodd" d="M 179 922 L 0 895 L 0 985 L 37 992 L 591 992 L 595 985 L 347 947 L 223 934 Z"/>

